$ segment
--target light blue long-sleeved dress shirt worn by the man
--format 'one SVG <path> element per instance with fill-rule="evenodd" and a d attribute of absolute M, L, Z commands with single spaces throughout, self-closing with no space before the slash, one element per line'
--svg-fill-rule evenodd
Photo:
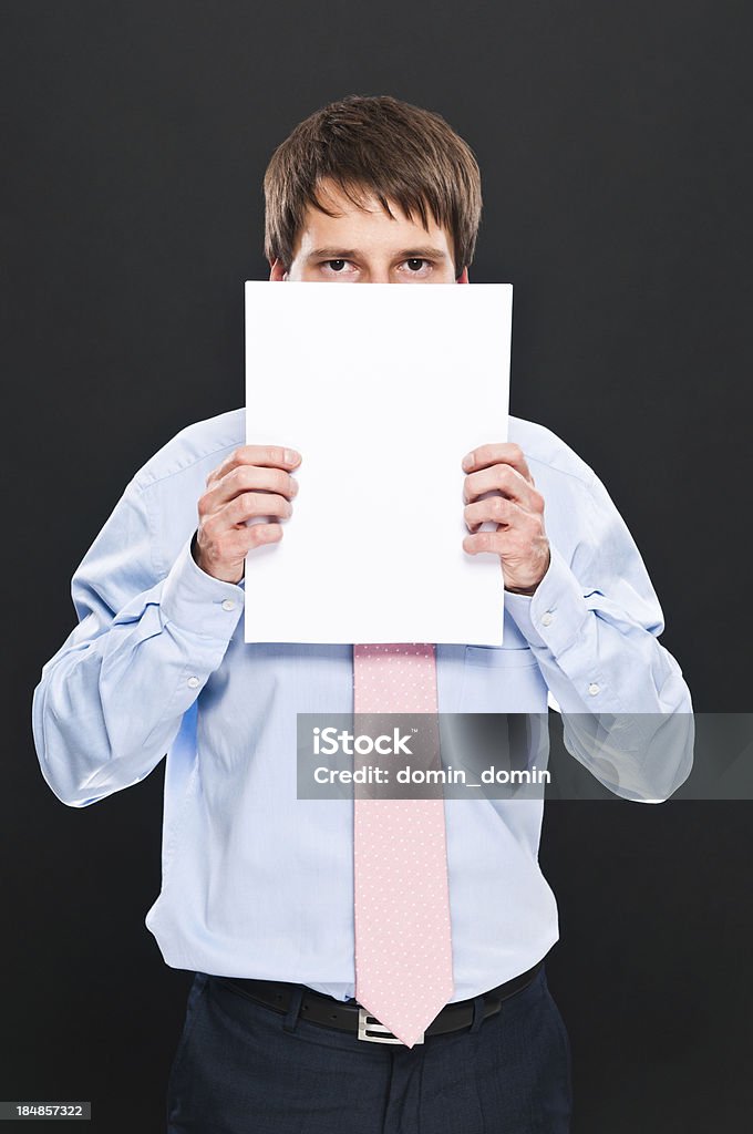
<path fill-rule="evenodd" d="M 510 417 L 509 440 L 543 493 L 551 564 L 533 598 L 506 594 L 502 648 L 438 645 L 440 711 L 545 713 L 553 700 L 565 720 L 689 714 L 658 642 L 659 602 L 604 486 L 541 425 Z M 198 422 L 126 486 L 74 575 L 79 621 L 34 693 L 36 751 L 73 807 L 137 784 L 167 753 L 162 887 L 145 923 L 168 965 L 346 999 L 353 799 L 296 798 L 296 713 L 353 712 L 353 648 L 244 643 L 244 601 L 263 601 L 252 600 L 253 555 L 234 585 L 189 551 L 206 475 L 244 441 L 243 409 Z M 648 759 L 644 747 L 616 777 L 575 733 L 568 748 L 627 798 L 666 798 L 688 772 L 684 752 Z M 541 801 L 445 809 L 462 1000 L 543 957 L 557 905 L 538 862 Z"/>

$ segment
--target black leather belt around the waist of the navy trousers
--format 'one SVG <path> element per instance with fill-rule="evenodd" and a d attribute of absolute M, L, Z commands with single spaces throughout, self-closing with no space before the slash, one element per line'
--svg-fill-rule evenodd
<path fill-rule="evenodd" d="M 533 981 L 543 960 L 539 960 L 533 968 L 514 976 L 497 988 L 483 992 L 483 1019 L 494 1016 L 501 1008 L 502 1002 L 508 1000 L 516 992 L 522 992 L 524 988 Z M 284 981 L 260 981 L 245 976 L 215 976 L 214 980 L 226 984 L 242 996 L 263 1004 L 268 1008 L 281 1014 L 287 1013 L 294 991 L 303 989 L 301 1000 L 301 1018 L 307 1019 L 311 1024 L 319 1024 L 322 1027 L 336 1027 L 344 1032 L 352 1032 L 359 1040 L 370 1040 L 375 1043 L 400 1043 L 396 1035 L 370 1016 L 357 1000 L 336 1000 L 333 997 L 324 996 L 310 989 L 306 984 L 289 984 Z M 464 1027 L 469 1027 L 473 1023 L 474 998 L 469 1000 L 456 1000 L 445 1005 L 441 1012 L 434 1016 L 428 1025 L 424 1035 L 441 1035 L 445 1032 L 458 1032 Z M 421 1043 L 422 1040 L 416 1042 Z"/>

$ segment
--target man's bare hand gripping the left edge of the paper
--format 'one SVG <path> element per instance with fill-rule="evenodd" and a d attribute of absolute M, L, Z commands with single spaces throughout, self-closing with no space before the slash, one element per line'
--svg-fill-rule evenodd
<path fill-rule="evenodd" d="M 287 518 L 298 482 L 289 471 L 301 454 L 279 446 L 244 445 L 206 477 L 192 542 L 196 564 L 214 578 L 239 583 L 248 551 L 282 539 L 282 525 L 246 524 L 254 516 Z"/>

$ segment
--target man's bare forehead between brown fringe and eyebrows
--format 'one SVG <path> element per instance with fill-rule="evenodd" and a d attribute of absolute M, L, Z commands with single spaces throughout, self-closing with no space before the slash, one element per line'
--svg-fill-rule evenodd
<path fill-rule="evenodd" d="M 428 228 L 421 223 L 420 217 L 408 219 L 399 204 L 389 201 L 392 212 L 390 217 L 376 197 L 366 189 L 354 193 L 359 201 L 356 204 L 339 186 L 332 181 L 323 181 L 318 192 L 321 204 L 335 215 L 321 212 L 310 205 L 304 214 L 304 221 L 296 239 L 295 254 L 304 253 L 313 247 L 331 245 L 332 242 L 347 240 L 348 247 L 363 244 L 386 243 L 404 245 L 431 242 L 449 254 L 451 242 L 449 232 L 437 225 L 431 213 L 426 217 Z"/>

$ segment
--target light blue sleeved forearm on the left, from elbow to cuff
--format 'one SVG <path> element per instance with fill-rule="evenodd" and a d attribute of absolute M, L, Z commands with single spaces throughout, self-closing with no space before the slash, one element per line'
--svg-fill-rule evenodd
<path fill-rule="evenodd" d="M 149 775 L 221 665 L 243 598 L 201 572 L 186 545 L 109 625 L 83 619 L 34 693 L 40 767 L 59 799 L 85 806 Z"/>

